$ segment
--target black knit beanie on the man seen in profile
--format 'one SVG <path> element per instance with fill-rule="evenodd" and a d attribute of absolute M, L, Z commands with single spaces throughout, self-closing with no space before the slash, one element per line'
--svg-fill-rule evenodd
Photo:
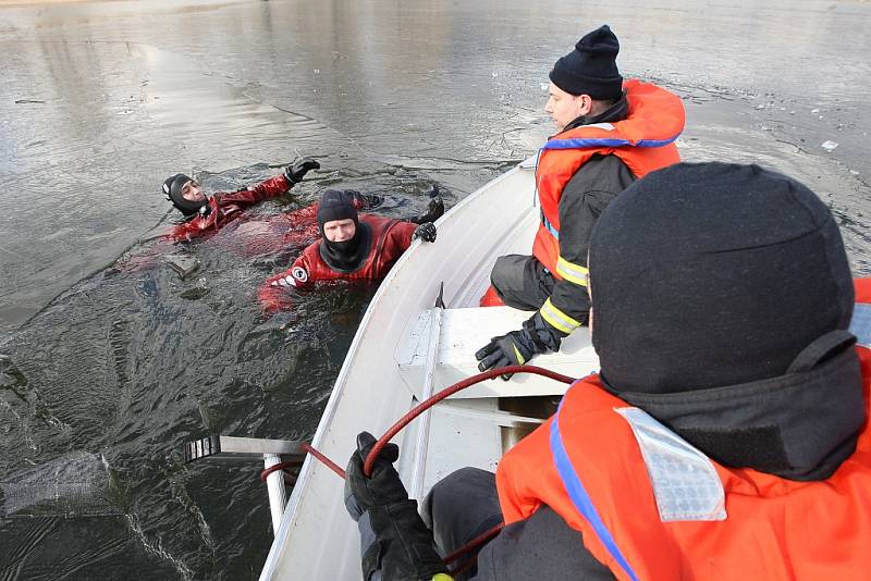
<path fill-rule="evenodd" d="M 619 42 L 604 24 L 587 34 L 575 50 L 556 61 L 550 78 L 571 95 L 589 95 L 597 100 L 615 100 L 623 95 L 623 77 L 617 70 Z"/>

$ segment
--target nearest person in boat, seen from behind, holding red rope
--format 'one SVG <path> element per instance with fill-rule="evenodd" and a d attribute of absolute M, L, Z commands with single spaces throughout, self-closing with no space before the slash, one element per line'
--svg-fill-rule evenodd
<path fill-rule="evenodd" d="M 867 578 L 871 279 L 826 203 L 756 165 L 674 165 L 609 206 L 589 260 L 601 371 L 495 474 L 438 482 L 430 528 L 398 449 L 366 478 L 358 436 L 364 578 L 434 579 L 503 519 L 476 580 Z"/>

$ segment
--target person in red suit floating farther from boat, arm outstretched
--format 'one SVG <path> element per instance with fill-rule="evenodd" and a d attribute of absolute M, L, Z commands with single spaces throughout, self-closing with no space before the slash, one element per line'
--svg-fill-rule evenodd
<path fill-rule="evenodd" d="M 182 212 L 184 222 L 177 224 L 168 238 L 181 242 L 216 232 L 242 215 L 243 210 L 263 200 L 275 198 L 290 190 L 303 181 L 311 171 L 320 168 L 320 163 L 310 158 L 303 158 L 287 165 L 284 173 L 270 177 L 256 186 L 238 191 L 220 191 L 206 195 L 196 180 L 177 173 L 163 182 L 163 195 Z"/>

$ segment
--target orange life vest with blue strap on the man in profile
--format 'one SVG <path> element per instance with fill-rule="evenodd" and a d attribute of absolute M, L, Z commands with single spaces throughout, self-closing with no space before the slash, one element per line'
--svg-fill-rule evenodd
<path fill-rule="evenodd" d="M 532 255 L 557 279 L 560 198 L 572 176 L 594 154 L 617 156 L 636 177 L 680 161 L 674 140 L 684 131 L 684 104 L 665 89 L 626 81 L 629 112 L 615 123 L 584 125 L 550 138 L 539 151 L 536 188 L 541 224 Z"/>

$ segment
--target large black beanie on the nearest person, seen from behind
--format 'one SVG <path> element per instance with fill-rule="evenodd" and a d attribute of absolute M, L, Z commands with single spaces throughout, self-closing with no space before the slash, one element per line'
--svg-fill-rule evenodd
<path fill-rule="evenodd" d="M 635 182 L 596 224 L 589 265 L 593 346 L 618 392 L 783 375 L 852 313 L 832 212 L 756 165 L 682 163 Z"/>

